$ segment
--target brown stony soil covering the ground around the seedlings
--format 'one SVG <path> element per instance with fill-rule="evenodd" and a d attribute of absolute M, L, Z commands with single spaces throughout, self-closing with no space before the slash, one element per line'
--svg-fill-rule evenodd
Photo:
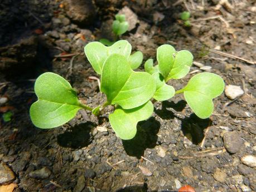
<path fill-rule="evenodd" d="M 256 4 L 184 2 L 98 0 L 90 4 L 92 15 L 77 22 L 69 16 L 69 1 L 3 0 L 0 97 L 8 101 L 0 109 L 2 114 L 11 110 L 13 116 L 8 122 L 1 119 L 0 175 L 2 169 L 9 171 L 2 184 L 17 184 L 15 192 L 177 191 L 183 185 L 197 192 L 256 191 L 255 167 L 241 161 L 245 155 L 256 155 L 255 65 L 209 51 L 215 48 L 255 61 Z M 61 127 L 37 129 L 28 111 L 37 99 L 33 83 L 43 72 L 67 78 L 79 99 L 91 107 L 106 100 L 98 83 L 89 78 L 97 75 L 83 47 L 100 37 L 110 38 L 109 24 L 104 23 L 111 23 L 124 6 L 138 16 L 138 23 L 121 38 L 133 51 L 142 51 L 144 61 L 156 60 L 156 48 L 164 43 L 190 50 L 195 61 L 210 66 L 207 71 L 223 77 L 226 85 L 243 88 L 244 95 L 230 100 L 223 93 L 214 99 L 214 114 L 206 120 L 192 113 L 182 95 L 155 102 L 152 117 L 139 122 L 132 140 L 114 134 L 108 121 L 111 109 L 99 119 L 81 110 Z M 192 27 L 179 19 L 187 9 Z M 71 62 L 69 53 L 79 55 Z M 178 90 L 202 71 L 193 65 L 185 78 L 168 83 Z"/>

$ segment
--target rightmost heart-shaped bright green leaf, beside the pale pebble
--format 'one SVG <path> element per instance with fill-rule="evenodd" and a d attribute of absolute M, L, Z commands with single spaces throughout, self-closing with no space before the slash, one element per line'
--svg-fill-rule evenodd
<path fill-rule="evenodd" d="M 224 86 L 223 78 L 219 75 L 204 72 L 193 76 L 182 90 L 195 114 L 206 119 L 214 110 L 212 99 L 221 95 Z"/>

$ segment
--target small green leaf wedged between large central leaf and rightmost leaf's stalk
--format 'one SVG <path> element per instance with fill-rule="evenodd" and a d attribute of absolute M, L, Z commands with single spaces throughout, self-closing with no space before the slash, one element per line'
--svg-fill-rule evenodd
<path fill-rule="evenodd" d="M 153 98 L 157 101 L 165 101 L 171 99 L 175 94 L 175 89 L 165 83 L 165 78 L 163 78 L 160 73 L 154 73 L 152 76 L 157 85 Z"/>

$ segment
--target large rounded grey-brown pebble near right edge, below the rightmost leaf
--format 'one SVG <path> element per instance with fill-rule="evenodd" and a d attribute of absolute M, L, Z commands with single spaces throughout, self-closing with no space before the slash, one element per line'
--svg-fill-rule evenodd
<path fill-rule="evenodd" d="M 225 132 L 223 135 L 224 146 L 230 153 L 235 154 L 243 146 L 243 140 L 237 132 Z"/>

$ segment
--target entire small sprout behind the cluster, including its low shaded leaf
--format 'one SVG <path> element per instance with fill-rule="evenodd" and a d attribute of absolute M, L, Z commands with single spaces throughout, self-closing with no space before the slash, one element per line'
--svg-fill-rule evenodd
<path fill-rule="evenodd" d="M 127 21 L 125 21 L 125 15 L 124 14 L 116 14 L 115 20 L 112 23 L 112 31 L 114 33 L 114 40 L 116 41 L 118 36 L 123 35 L 125 32 L 127 32 L 129 28 L 129 24 Z M 112 46 L 114 43 L 112 41 L 109 41 L 105 38 L 100 39 L 100 42 L 103 45 Z"/>

